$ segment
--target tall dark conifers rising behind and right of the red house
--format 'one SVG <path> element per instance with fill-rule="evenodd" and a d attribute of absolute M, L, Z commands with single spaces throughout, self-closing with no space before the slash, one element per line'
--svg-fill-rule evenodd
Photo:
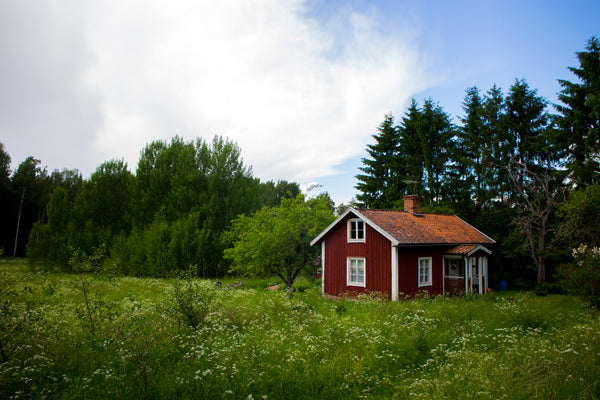
<path fill-rule="evenodd" d="M 401 209 L 403 195 L 419 194 L 425 210 L 494 237 L 491 271 L 525 283 L 551 277 L 547 264 L 569 249 L 600 245 L 600 41 L 577 57 L 577 81 L 558 81 L 556 113 L 516 79 L 506 94 L 468 88 L 458 124 L 432 99 L 413 100 L 397 122 L 386 115 L 356 177 L 359 205 Z"/>

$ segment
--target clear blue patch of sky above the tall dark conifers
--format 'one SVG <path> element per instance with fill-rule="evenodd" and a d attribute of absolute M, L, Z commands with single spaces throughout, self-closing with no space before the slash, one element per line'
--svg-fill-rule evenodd
<path fill-rule="evenodd" d="M 338 2 L 335 2 L 336 5 Z M 349 4 L 348 2 L 341 2 Z M 415 45 L 427 59 L 427 67 L 440 79 L 425 90 L 411 94 L 419 104 L 432 98 L 458 123 L 465 90 L 477 86 L 482 92 L 498 85 L 506 93 L 515 79 L 525 79 L 550 104 L 557 103 L 557 79 L 575 80 L 568 67 L 578 67 L 577 51 L 588 39 L 600 35 L 600 2 L 595 1 L 379 1 L 350 2 L 381 18 L 385 32 L 397 25 L 414 29 Z M 336 8 L 330 4 L 325 13 Z M 406 29 L 406 27 L 405 27 Z M 390 101 L 396 120 L 406 103 Z M 548 108 L 554 112 L 552 106 Z M 383 121 L 383 115 L 380 118 Z M 371 134 L 376 133 L 376 126 Z M 371 143 L 369 141 L 369 143 Z M 365 157 L 363 152 L 361 155 Z M 331 193 L 356 195 L 354 173 L 359 158 L 350 159 L 338 176 L 321 180 Z M 337 196 L 336 196 L 337 197 Z M 345 200 L 344 200 L 345 201 Z"/>

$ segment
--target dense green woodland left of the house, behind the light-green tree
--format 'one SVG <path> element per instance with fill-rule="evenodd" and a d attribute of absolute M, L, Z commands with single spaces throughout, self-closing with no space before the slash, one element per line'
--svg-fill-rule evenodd
<path fill-rule="evenodd" d="M 102 249 L 121 274 L 165 276 L 194 265 L 200 276 L 222 276 L 231 221 L 300 195 L 295 182 L 253 177 L 240 148 L 218 136 L 154 141 L 135 173 L 111 160 L 88 180 L 77 170 L 48 173 L 33 157 L 11 174 L 0 143 L 0 168 L 0 248 L 64 271 L 75 251 Z"/>

